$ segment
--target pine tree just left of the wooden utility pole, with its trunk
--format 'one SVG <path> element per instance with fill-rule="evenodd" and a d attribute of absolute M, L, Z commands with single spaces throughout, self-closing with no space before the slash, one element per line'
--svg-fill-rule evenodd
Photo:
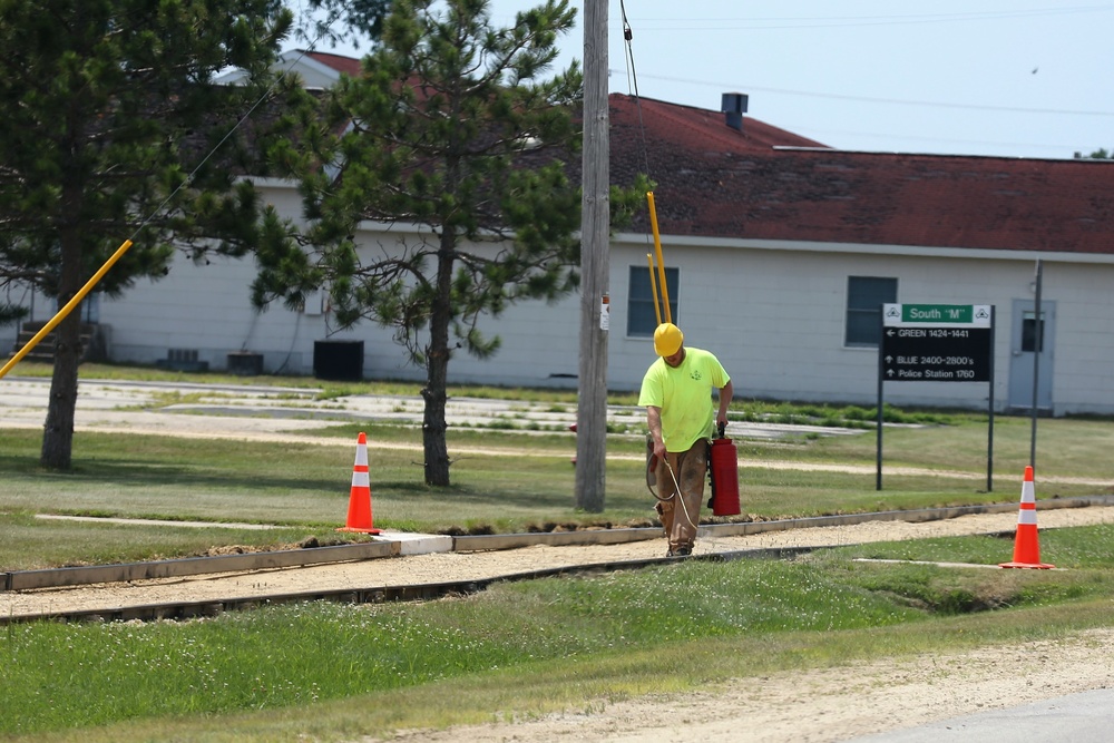
<path fill-rule="evenodd" d="M 567 170 L 583 76 L 576 62 L 549 75 L 575 14 L 548 0 L 496 28 L 487 0 L 397 0 L 362 75 L 329 94 L 330 130 L 348 128 L 322 134 L 311 163 L 334 167 L 304 175 L 302 245 L 260 255 L 257 304 L 328 287 L 340 326 L 393 327 L 424 368 L 428 485 L 449 485 L 453 350 L 490 356 L 499 339 L 480 333 L 480 316 L 577 285 L 580 189 Z M 353 237 L 364 221 L 428 229 L 371 255 Z"/>

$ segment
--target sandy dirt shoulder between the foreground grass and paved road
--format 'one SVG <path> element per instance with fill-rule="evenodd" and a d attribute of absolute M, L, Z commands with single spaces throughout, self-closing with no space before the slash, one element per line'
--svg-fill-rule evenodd
<path fill-rule="evenodd" d="M 1114 630 L 1027 647 L 920 655 L 739 680 L 681 696 L 596 702 L 516 723 L 412 731 L 429 743 L 833 743 L 1114 685 Z"/>

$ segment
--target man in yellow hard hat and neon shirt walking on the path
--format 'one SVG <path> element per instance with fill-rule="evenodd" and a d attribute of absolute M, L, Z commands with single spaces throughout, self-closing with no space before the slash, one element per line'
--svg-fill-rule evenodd
<path fill-rule="evenodd" d="M 667 557 L 693 551 L 713 427 L 727 424 L 733 392 L 720 360 L 709 351 L 685 348 L 684 341 L 673 323 L 657 326 L 654 351 L 659 359 L 646 370 L 638 395 L 653 442 L 647 468 L 656 460 L 653 477 L 657 512 L 670 540 Z M 719 410 L 712 405 L 713 388 L 720 391 Z"/>

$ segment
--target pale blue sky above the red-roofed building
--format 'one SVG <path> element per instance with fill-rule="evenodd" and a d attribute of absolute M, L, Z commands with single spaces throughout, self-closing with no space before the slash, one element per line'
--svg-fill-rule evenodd
<path fill-rule="evenodd" d="M 584 3 L 558 65 L 584 58 Z M 1114 3 L 608 0 L 608 87 L 849 150 L 1071 158 L 1114 150 Z M 536 0 L 491 0 L 510 26 Z M 624 19 L 632 39 L 624 40 Z M 361 56 L 352 47 L 321 51 Z"/>

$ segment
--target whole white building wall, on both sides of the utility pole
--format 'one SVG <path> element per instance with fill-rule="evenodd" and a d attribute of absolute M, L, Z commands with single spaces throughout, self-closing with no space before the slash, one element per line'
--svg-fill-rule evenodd
<path fill-rule="evenodd" d="M 268 198 L 296 214 L 296 195 L 272 188 Z M 404 235 L 369 225 L 367 250 L 390 250 Z M 1035 255 L 987 251 L 900 248 L 848 245 L 672 245 L 663 237 L 665 264 L 680 270 L 677 324 L 686 342 L 720 358 L 735 380 L 736 394 L 873 404 L 878 353 L 846 348 L 849 276 L 898 280 L 898 302 L 993 304 L 997 307 L 995 399 L 1008 393 L 1015 300 L 1034 299 Z M 494 248 L 492 248 L 494 250 Z M 612 248 L 608 387 L 636 390 L 654 360 L 646 338 L 631 338 L 627 282 L 631 266 L 645 270 L 652 243 L 622 236 Z M 919 254 L 918 254 L 919 253 Z M 1105 256 L 1045 254 L 1043 297 L 1054 302 L 1055 363 L 1053 402 L 1057 414 L 1114 413 L 1114 264 Z M 409 365 L 390 329 L 364 322 L 330 335 L 330 315 L 290 312 L 276 304 L 256 314 L 248 300 L 255 275 L 251 258 L 211 258 L 196 266 L 178 260 L 159 282 L 141 281 L 120 301 L 105 301 L 101 321 L 113 326 L 113 354 L 120 361 L 152 363 L 168 349 L 197 349 L 214 368 L 241 349 L 264 354 L 266 371 L 311 373 L 314 341 L 364 341 L 364 374 L 420 381 L 423 370 Z M 555 304 L 509 306 L 480 329 L 501 336 L 489 360 L 455 351 L 450 381 L 575 389 L 578 373 L 580 299 Z M 985 407 L 986 383 L 888 382 L 893 404 Z"/>

